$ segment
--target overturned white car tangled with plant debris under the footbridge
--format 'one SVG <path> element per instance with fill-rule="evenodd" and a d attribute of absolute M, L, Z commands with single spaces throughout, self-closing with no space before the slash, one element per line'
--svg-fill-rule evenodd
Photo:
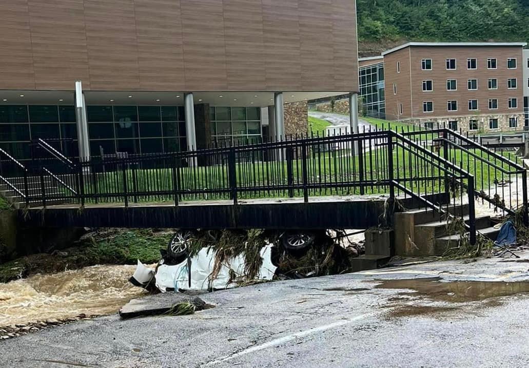
<path fill-rule="evenodd" d="M 363 253 L 343 230 L 178 230 L 156 268 L 140 262 L 131 282 L 161 292 L 230 289 L 344 273 Z"/>

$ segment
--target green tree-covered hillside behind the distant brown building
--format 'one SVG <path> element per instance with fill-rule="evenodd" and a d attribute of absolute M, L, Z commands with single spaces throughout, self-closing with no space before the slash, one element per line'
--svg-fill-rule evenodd
<path fill-rule="evenodd" d="M 528 41 L 527 0 L 357 0 L 360 56 L 406 41 Z"/>

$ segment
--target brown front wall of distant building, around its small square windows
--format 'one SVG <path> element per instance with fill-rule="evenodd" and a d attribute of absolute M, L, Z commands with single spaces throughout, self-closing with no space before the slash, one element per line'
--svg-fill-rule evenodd
<path fill-rule="evenodd" d="M 521 47 L 412 46 L 409 50 L 411 50 L 412 60 L 414 118 L 523 112 Z M 455 60 L 455 69 L 446 68 L 447 59 Z M 475 59 L 476 69 L 467 68 L 468 59 Z M 496 60 L 496 69 L 488 68 L 488 59 Z M 508 59 L 517 60 L 515 69 L 507 68 Z M 422 60 L 431 60 L 432 69 L 422 70 Z M 471 62 L 473 63 L 473 61 Z M 508 88 L 509 78 L 516 79 L 516 88 Z M 469 79 L 477 81 L 477 89 L 469 90 Z M 496 88 L 489 89 L 489 79 L 496 80 Z M 423 91 L 423 80 L 433 81 L 433 91 Z M 453 80 L 455 80 L 455 83 L 453 83 Z M 516 99 L 516 108 L 509 109 L 509 98 Z M 496 109 L 489 109 L 489 99 L 497 100 Z M 469 110 L 469 101 L 471 100 L 477 100 L 477 110 Z M 425 101 L 433 102 L 432 112 L 423 111 L 423 102 Z M 457 108 L 449 110 L 449 101 L 456 101 Z"/>

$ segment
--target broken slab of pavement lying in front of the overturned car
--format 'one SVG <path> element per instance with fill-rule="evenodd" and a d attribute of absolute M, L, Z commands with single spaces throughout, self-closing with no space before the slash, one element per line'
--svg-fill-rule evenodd
<path fill-rule="evenodd" d="M 195 310 L 206 309 L 206 303 L 198 297 L 181 293 L 166 293 L 132 299 L 120 309 L 120 316 L 122 318 L 133 318 L 161 315 L 167 313 L 176 304 L 184 302 L 193 304 Z"/>

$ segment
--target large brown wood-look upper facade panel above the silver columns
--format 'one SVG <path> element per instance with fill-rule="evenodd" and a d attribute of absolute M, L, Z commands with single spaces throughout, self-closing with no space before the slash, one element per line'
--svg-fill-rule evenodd
<path fill-rule="evenodd" d="M 81 79 L 93 91 L 355 91 L 354 7 L 350 0 L 3 2 L 0 89 L 72 89 Z"/>

